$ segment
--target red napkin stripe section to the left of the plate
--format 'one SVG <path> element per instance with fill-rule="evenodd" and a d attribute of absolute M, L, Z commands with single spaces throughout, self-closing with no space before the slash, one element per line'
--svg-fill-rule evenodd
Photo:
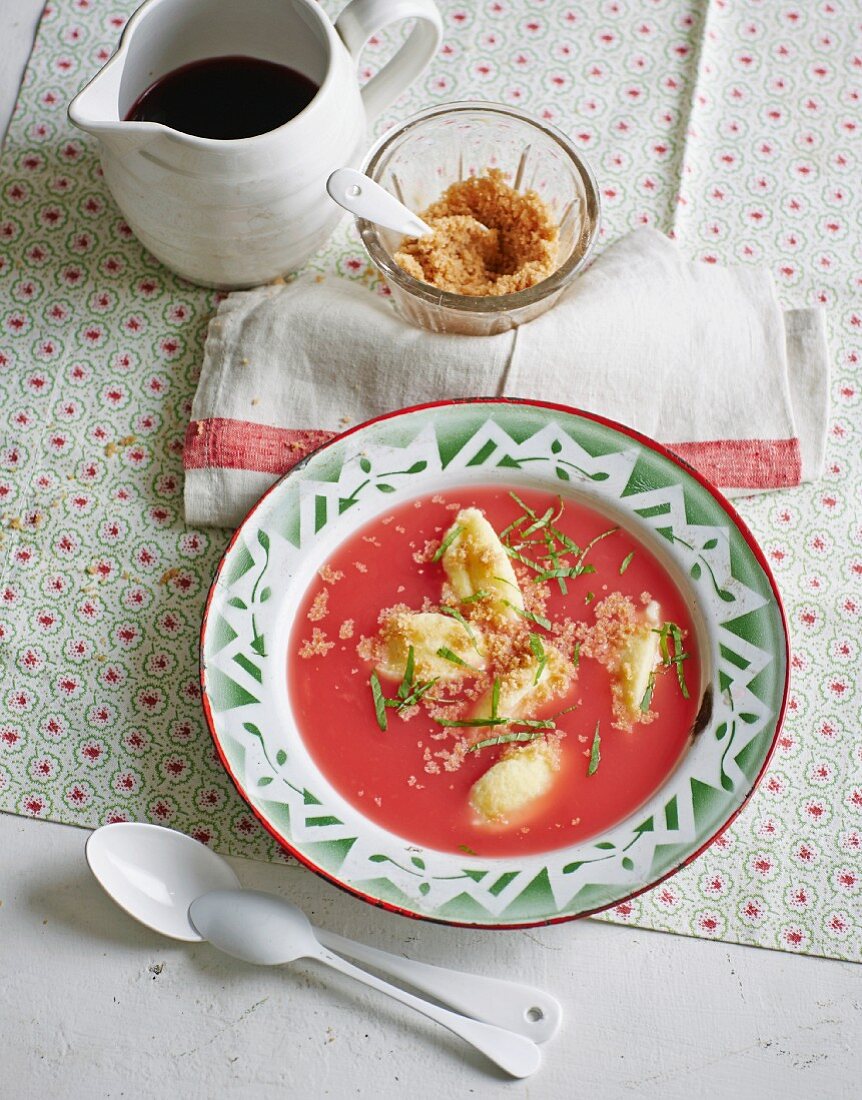
<path fill-rule="evenodd" d="M 192 420 L 186 429 L 183 465 L 186 470 L 219 466 L 283 474 L 336 435 L 314 428 L 270 428 L 225 417 Z"/>

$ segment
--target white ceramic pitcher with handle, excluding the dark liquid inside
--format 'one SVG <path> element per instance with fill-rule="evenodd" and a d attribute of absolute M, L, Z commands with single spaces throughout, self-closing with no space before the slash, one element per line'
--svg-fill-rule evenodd
<path fill-rule="evenodd" d="M 407 19 L 410 36 L 361 91 L 365 42 Z M 108 186 L 153 255 L 194 283 L 253 286 L 325 241 L 342 213 L 327 177 L 360 161 L 366 122 L 419 76 L 440 34 L 433 0 L 351 0 L 334 26 L 314 0 L 146 0 L 69 118 L 99 139 Z M 230 55 L 286 65 L 319 90 L 284 125 L 235 141 L 124 121 L 166 73 Z"/>

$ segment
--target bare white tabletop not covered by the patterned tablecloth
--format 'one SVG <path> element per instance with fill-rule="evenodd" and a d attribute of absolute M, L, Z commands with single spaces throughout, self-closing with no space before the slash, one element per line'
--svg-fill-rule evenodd
<path fill-rule="evenodd" d="M 98 2 L 98 0 L 97 0 Z M 0 0 L 0 133 L 41 0 Z M 0 814 L 0 1097 L 209 1100 L 859 1096 L 852 964 L 583 921 L 464 932 L 378 912 L 299 869 L 233 860 L 334 931 L 552 990 L 565 1022 L 510 1081 L 447 1032 L 312 964 L 165 941 L 90 877 L 86 833 Z"/>

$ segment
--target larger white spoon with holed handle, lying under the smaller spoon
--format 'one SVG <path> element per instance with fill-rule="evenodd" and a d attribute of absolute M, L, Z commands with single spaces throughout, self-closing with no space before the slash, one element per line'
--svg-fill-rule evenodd
<path fill-rule="evenodd" d="M 191 837 L 159 825 L 122 822 L 104 825 L 87 840 L 90 870 L 121 909 L 148 928 L 175 939 L 203 938 L 189 921 L 189 906 L 211 890 L 239 890 L 225 860 Z M 281 900 L 283 905 L 290 905 Z M 294 908 L 294 906 L 291 906 Z M 299 912 L 299 911 L 298 911 Z M 550 993 L 515 981 L 465 974 L 390 955 L 334 932 L 314 928 L 320 944 L 405 981 L 475 1020 L 544 1043 L 562 1020 Z M 263 933 L 245 928 L 251 941 Z"/>

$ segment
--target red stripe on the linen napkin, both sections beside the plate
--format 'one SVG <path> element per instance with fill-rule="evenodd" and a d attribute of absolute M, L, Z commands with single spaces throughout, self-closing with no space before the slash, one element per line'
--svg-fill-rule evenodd
<path fill-rule="evenodd" d="M 335 435 L 314 428 L 272 428 L 225 417 L 192 420 L 186 431 L 183 464 L 186 470 L 219 468 L 283 474 Z M 715 485 L 784 488 L 802 481 L 798 439 L 714 439 L 668 447 Z"/>

